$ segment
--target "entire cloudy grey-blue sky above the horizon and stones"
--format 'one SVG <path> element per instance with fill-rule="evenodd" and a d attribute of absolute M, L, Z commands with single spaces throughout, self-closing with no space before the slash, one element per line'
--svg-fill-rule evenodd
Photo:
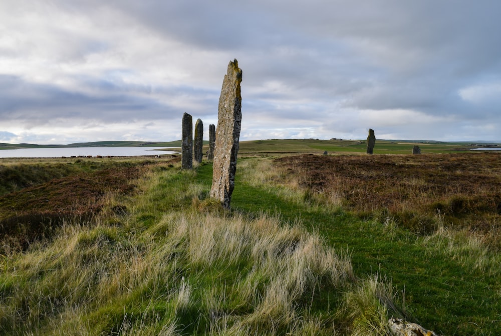
<path fill-rule="evenodd" d="M 243 71 L 240 140 L 501 141 L 498 0 L 2 0 L 0 142 L 171 141 L 217 123 Z"/>

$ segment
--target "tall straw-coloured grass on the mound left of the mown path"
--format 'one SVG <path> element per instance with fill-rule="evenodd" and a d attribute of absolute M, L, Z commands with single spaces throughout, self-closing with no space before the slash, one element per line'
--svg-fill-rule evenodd
<path fill-rule="evenodd" d="M 52 241 L 2 256 L 0 334 L 386 328 L 391 292 L 357 279 L 347 252 L 277 216 L 199 211 L 191 199 L 206 191 L 195 174 L 153 167 L 136 195 L 108 195 L 93 222 L 66 221 Z"/>

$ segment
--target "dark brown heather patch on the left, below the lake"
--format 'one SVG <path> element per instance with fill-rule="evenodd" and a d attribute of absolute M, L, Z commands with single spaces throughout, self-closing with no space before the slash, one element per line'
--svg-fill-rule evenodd
<path fill-rule="evenodd" d="M 107 193 L 130 194 L 131 180 L 144 169 L 138 165 L 82 173 L 0 197 L 3 245 L 26 249 L 34 240 L 50 237 L 66 218 L 92 218 L 102 209 Z"/>

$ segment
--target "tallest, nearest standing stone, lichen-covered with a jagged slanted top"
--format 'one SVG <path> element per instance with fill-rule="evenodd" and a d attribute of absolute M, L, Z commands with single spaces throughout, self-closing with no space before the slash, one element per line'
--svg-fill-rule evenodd
<path fill-rule="evenodd" d="M 219 200 L 226 209 L 229 209 L 231 193 L 235 186 L 236 156 L 242 120 L 241 81 L 242 70 L 238 68 L 238 62 L 236 60 L 229 62 L 227 74 L 222 82 L 221 96 L 219 96 L 210 189 L 210 197 Z"/>

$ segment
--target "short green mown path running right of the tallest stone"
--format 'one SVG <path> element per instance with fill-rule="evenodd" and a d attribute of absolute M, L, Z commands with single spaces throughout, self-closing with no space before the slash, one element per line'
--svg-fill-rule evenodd
<path fill-rule="evenodd" d="M 273 173 L 261 180 L 251 177 L 249 171 L 263 170 L 259 160 L 240 160 L 247 170 L 237 173 L 232 198 L 236 211 L 278 213 L 289 222 L 300 219 L 332 246 L 348 249 L 355 274 L 377 273 L 391 281 L 407 317 L 426 328 L 444 335 L 501 334 L 498 253 L 486 255 L 468 246 L 467 239 L 454 241 L 439 233 L 417 236 L 385 218 L 363 220 L 322 204 L 300 188 L 292 195 L 288 187 L 272 183 L 277 178 Z"/>

